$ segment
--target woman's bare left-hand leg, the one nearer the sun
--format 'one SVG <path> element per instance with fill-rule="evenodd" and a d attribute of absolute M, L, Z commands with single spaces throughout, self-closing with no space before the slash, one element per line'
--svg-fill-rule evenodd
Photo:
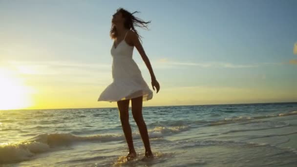
<path fill-rule="evenodd" d="M 129 153 L 127 155 L 127 158 L 136 156 L 136 152 L 133 146 L 131 126 L 129 124 L 129 102 L 129 99 L 117 102 L 123 131 L 129 147 Z"/>

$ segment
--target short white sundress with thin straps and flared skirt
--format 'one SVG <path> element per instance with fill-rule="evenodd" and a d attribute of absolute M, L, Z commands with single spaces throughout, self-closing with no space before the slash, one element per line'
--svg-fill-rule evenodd
<path fill-rule="evenodd" d="M 128 31 L 127 31 L 128 33 Z M 112 45 L 112 78 L 109 84 L 98 98 L 99 101 L 117 102 L 143 96 L 143 101 L 153 97 L 153 91 L 142 77 L 141 71 L 132 59 L 134 46 L 130 46 L 122 40 L 117 47 Z"/>

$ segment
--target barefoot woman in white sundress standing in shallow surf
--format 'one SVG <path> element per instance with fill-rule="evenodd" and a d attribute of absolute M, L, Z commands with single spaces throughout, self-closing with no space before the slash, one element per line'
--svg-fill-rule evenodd
<path fill-rule="evenodd" d="M 106 87 L 98 98 L 98 101 L 117 102 L 123 131 L 129 147 L 129 152 L 126 156 L 128 160 L 137 155 L 133 146 L 131 127 L 128 120 L 130 100 L 132 115 L 145 146 L 145 157 L 153 158 L 148 139 L 147 125 L 142 115 L 142 103 L 143 101 L 152 99 L 153 92 L 149 89 L 139 67 L 132 59 L 134 46 L 148 67 L 153 90 L 156 88 L 158 93 L 160 89 L 148 57 L 140 43 L 141 36 L 134 28 L 134 26 L 147 28 L 147 24 L 150 21 L 142 21 L 133 16 L 134 13 L 138 12 L 130 13 L 123 8 L 119 8 L 113 15 L 110 30 L 110 37 L 114 40 L 111 48 L 113 82 Z"/>

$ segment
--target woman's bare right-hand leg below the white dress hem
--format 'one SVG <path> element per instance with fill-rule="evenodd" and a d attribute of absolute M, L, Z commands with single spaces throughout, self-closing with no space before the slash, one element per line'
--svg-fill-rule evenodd
<path fill-rule="evenodd" d="M 146 155 L 146 157 L 153 157 L 152 151 L 150 149 L 150 144 L 149 144 L 147 125 L 146 125 L 146 123 L 143 119 L 143 115 L 142 115 L 142 98 L 143 98 L 143 96 L 131 99 L 132 114 L 133 114 L 133 118 L 138 126 L 142 141 L 143 141 L 145 149 L 146 149 L 145 155 Z"/>

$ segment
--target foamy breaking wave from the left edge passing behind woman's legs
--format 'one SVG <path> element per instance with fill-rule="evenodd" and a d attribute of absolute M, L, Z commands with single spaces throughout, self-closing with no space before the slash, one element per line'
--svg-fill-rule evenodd
<path fill-rule="evenodd" d="M 148 130 L 150 138 L 162 138 L 164 135 L 178 133 L 185 131 L 189 126 L 172 126 L 164 127 L 157 126 Z M 133 139 L 141 139 L 139 132 L 132 134 Z M 30 159 L 37 153 L 46 152 L 51 147 L 68 145 L 73 142 L 87 142 L 87 141 L 121 141 L 125 140 L 124 134 L 110 134 L 110 135 L 92 135 L 92 136 L 75 136 L 70 133 L 52 133 L 40 134 L 28 141 L 19 143 L 5 143 L 0 145 L 0 164 L 19 162 Z"/>

